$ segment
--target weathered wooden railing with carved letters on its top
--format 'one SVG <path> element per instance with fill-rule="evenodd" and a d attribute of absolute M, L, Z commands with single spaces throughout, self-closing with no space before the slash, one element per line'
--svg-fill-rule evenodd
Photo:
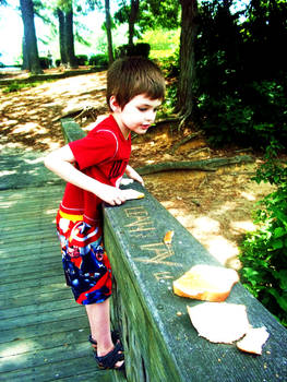
<path fill-rule="evenodd" d="M 175 296 L 172 280 L 192 265 L 218 263 L 151 193 L 140 184 L 129 187 L 145 198 L 104 207 L 105 246 L 119 289 L 113 309 L 122 321 L 128 381 L 286 382 L 287 331 L 241 284 L 232 288 L 227 302 L 244 305 L 251 325 L 268 331 L 262 356 L 198 335 L 187 305 L 201 302 Z M 167 230 L 175 231 L 171 244 L 163 241 Z"/>

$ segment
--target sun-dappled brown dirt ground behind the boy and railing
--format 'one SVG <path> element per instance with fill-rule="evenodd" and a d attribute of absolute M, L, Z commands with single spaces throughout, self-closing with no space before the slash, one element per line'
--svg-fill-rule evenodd
<path fill-rule="evenodd" d="M 48 152 L 63 144 L 59 118 L 84 106 L 93 106 L 103 117 L 105 72 L 91 73 L 52 82 L 21 92 L 0 89 L 0 150 L 22 148 Z M 99 117 L 99 118 L 100 118 Z M 82 120 L 89 130 L 95 122 Z M 227 266 L 239 268 L 238 243 L 255 226 L 251 212 L 255 202 L 272 191 L 270 184 L 256 184 L 250 178 L 262 158 L 236 148 L 215 151 L 204 138 L 171 147 L 192 131 L 178 133 L 175 126 L 160 124 L 144 136 L 133 139 L 131 166 L 166 160 L 196 160 L 249 154 L 254 163 L 225 166 L 217 171 L 177 170 L 144 176 L 146 188 L 210 252 Z M 167 227 L 168 228 L 168 227 Z"/>

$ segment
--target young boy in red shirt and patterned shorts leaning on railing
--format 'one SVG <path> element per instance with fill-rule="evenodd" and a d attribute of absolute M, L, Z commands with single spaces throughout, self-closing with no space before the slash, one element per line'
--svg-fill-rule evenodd
<path fill-rule="evenodd" d="M 155 120 L 165 95 L 158 67 L 144 58 L 113 62 L 107 74 L 110 116 L 84 139 L 49 154 L 45 165 L 64 179 L 57 230 L 68 285 L 76 302 L 86 308 L 95 358 L 105 369 L 124 368 L 122 345 L 110 333 L 111 268 L 103 247 L 101 202 L 120 205 L 123 174 L 143 184 L 128 165 L 131 131 L 144 134 Z"/>

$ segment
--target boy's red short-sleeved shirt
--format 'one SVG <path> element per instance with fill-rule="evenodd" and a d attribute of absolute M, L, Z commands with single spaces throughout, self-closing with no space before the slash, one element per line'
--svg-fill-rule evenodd
<path fill-rule="evenodd" d="M 130 159 L 131 138 L 124 139 L 112 116 L 69 146 L 76 168 L 105 184 L 119 187 Z M 95 194 L 67 183 L 60 210 L 67 214 L 84 215 L 84 222 L 95 224 L 99 218 L 100 203 Z"/>

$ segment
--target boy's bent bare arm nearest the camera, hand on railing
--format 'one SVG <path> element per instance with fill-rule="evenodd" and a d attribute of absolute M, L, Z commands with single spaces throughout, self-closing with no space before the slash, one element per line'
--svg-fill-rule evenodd
<path fill-rule="evenodd" d="M 45 158 L 45 166 L 69 183 L 89 191 L 110 205 L 125 201 L 122 190 L 93 179 L 74 167 L 74 155 L 69 145 L 65 145 Z"/>

